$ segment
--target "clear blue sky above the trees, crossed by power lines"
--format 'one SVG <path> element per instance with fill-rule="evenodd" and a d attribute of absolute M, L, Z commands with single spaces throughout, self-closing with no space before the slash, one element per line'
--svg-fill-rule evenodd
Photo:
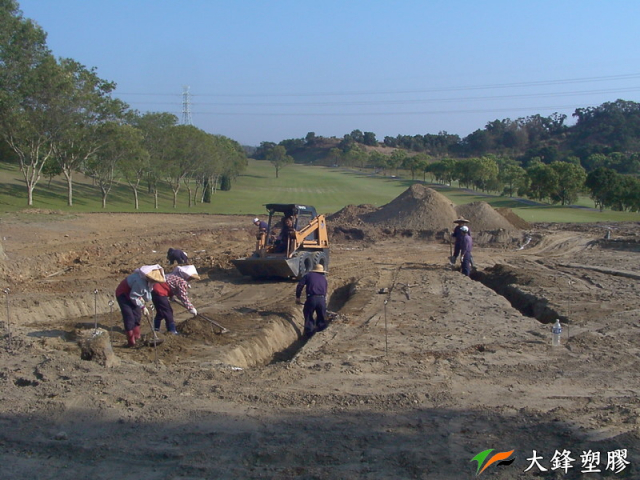
<path fill-rule="evenodd" d="M 640 101 L 638 0 L 18 0 L 57 57 L 141 112 L 243 145 L 461 137 Z"/>

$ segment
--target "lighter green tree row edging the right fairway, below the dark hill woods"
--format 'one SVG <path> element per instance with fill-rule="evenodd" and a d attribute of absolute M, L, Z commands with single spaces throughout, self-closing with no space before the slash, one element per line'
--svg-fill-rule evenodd
<path fill-rule="evenodd" d="M 276 175 L 293 162 L 283 145 L 263 143 L 261 149 L 263 158 L 276 167 Z M 430 176 L 436 182 L 451 184 L 457 181 L 465 188 L 518 195 L 552 204 L 570 205 L 579 195 L 588 193 L 601 209 L 640 211 L 640 181 L 611 168 L 617 164 L 617 154 L 592 154 L 589 162 L 596 168 L 589 174 L 577 157 L 548 164 L 541 158 L 534 158 L 525 168 L 506 155 L 437 160 L 426 153 L 411 154 L 399 148 L 390 154 L 377 150 L 367 152 L 358 144 L 351 145 L 346 151 L 333 147 L 327 157 L 333 165 L 372 168 L 383 174 L 405 170 L 410 172 L 412 180 L 422 176 L 426 181 Z"/>

